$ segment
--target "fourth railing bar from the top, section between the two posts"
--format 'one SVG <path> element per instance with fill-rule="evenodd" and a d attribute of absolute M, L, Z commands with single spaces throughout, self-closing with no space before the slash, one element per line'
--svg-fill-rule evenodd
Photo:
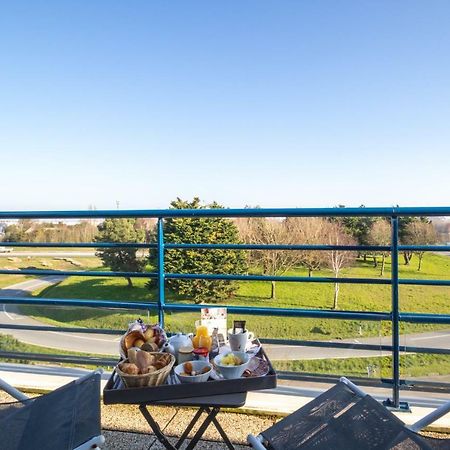
<path fill-rule="evenodd" d="M 0 299 L 1 303 L 1 299 Z M 390 313 L 384 312 L 362 312 L 362 311 L 330 311 L 319 309 L 298 309 L 298 308 L 261 308 L 261 307 L 248 307 L 248 306 L 230 306 L 230 305 L 214 305 L 215 308 L 227 308 L 229 313 L 239 313 L 248 315 L 271 315 L 282 317 L 316 317 L 341 320 L 390 320 Z M 202 304 L 175 304 L 166 303 L 164 305 L 165 311 L 178 311 L 178 312 L 195 312 L 202 308 L 211 308 L 211 305 Z"/>

